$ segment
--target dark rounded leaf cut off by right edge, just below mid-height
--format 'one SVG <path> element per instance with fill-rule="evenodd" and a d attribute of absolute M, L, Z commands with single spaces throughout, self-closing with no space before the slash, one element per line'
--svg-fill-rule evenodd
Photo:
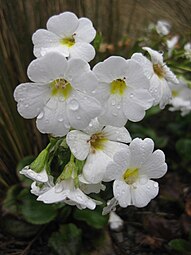
<path fill-rule="evenodd" d="M 176 143 L 176 150 L 184 160 L 190 161 L 191 139 L 180 139 Z"/>

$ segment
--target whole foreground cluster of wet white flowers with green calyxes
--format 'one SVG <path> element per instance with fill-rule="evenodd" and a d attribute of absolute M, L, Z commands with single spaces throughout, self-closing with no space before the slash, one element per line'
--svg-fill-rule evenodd
<path fill-rule="evenodd" d="M 44 203 L 93 210 L 101 202 L 91 193 L 113 182 L 113 198 L 103 213 L 116 205 L 143 207 L 157 196 L 158 183 L 152 179 L 162 177 L 167 165 L 150 138 L 132 140 L 125 125 L 142 120 L 153 105 L 164 108 L 172 97 L 169 84 L 178 80 L 163 55 L 149 47 L 143 49 L 150 59 L 142 53 L 131 59 L 111 56 L 91 69 L 95 35 L 89 19 L 71 12 L 51 17 L 47 30 L 33 34 L 37 58 L 27 70 L 31 82 L 20 84 L 14 97 L 20 115 L 36 117 L 39 131 L 52 140 L 20 173 L 33 180 L 31 193 Z M 56 175 L 58 148 L 69 151 L 70 159 L 59 154 Z"/>

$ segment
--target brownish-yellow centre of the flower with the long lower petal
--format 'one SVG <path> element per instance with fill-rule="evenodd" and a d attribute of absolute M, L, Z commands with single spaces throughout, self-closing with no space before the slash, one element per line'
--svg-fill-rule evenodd
<path fill-rule="evenodd" d="M 93 134 L 90 137 L 90 140 L 88 140 L 88 142 L 90 142 L 91 144 L 91 149 L 93 153 L 95 153 L 96 150 L 103 150 L 104 145 L 107 141 L 108 139 L 103 135 L 103 133 Z"/>

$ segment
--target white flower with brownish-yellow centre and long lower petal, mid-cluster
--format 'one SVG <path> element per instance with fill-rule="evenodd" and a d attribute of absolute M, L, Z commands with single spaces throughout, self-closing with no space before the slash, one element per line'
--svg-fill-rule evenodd
<path fill-rule="evenodd" d="M 79 160 L 86 159 L 83 176 L 89 183 L 104 179 L 109 162 L 113 162 L 116 153 L 126 149 L 127 145 L 123 143 L 130 141 L 126 128 L 104 127 L 96 119 L 85 130 L 72 130 L 66 136 L 72 154 Z"/>

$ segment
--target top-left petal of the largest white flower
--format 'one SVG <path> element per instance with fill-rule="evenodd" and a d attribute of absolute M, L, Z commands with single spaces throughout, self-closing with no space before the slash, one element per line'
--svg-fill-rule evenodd
<path fill-rule="evenodd" d="M 57 52 L 51 52 L 33 60 L 27 70 L 28 77 L 34 82 L 51 82 L 64 78 L 67 69 L 66 58 Z"/>

